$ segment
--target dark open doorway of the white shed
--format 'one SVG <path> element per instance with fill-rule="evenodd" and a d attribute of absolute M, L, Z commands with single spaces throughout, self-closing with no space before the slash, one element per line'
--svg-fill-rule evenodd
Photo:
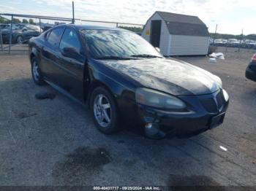
<path fill-rule="evenodd" d="M 159 47 L 160 45 L 161 24 L 162 20 L 151 20 L 150 43 L 154 47 Z"/>

